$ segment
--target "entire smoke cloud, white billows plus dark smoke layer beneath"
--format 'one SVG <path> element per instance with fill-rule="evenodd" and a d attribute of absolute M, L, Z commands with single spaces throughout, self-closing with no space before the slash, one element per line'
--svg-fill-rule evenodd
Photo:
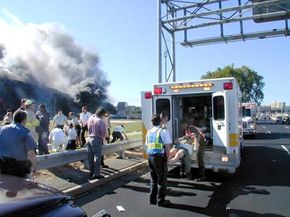
<path fill-rule="evenodd" d="M 67 102 L 67 107 L 87 105 L 93 112 L 102 105 L 114 112 L 107 93 L 110 81 L 96 52 L 77 44 L 56 24 L 11 25 L 2 20 L 1 25 L 6 30 L 0 30 L 2 107 L 4 101 L 4 107 L 8 102 L 19 105 L 22 97 L 50 104 L 62 96 L 66 100 L 53 101 L 55 109 Z"/>

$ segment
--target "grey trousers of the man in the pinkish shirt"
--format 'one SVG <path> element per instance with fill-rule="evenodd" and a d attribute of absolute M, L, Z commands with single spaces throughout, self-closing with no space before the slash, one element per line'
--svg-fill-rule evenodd
<path fill-rule="evenodd" d="M 88 161 L 90 167 L 90 175 L 99 176 L 101 173 L 101 156 L 102 156 L 103 140 L 96 137 L 88 139 Z"/>

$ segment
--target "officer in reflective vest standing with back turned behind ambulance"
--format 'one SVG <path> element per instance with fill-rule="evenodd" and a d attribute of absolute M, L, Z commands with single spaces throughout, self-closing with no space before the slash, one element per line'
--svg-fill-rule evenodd
<path fill-rule="evenodd" d="M 165 200 L 167 187 L 167 159 L 172 139 L 169 132 L 161 127 L 160 116 L 153 115 L 153 128 L 146 136 L 149 170 L 151 175 L 150 183 L 150 204 L 168 206 L 169 200 Z M 159 189 L 158 189 L 159 185 Z"/>

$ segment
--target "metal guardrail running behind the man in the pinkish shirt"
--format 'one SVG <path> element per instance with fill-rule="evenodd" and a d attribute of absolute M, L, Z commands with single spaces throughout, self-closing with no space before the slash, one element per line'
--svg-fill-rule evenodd
<path fill-rule="evenodd" d="M 103 146 L 103 155 L 124 151 L 126 149 L 141 147 L 141 139 L 125 140 Z M 38 169 L 49 169 L 88 158 L 87 148 L 72 151 L 62 151 L 54 154 L 37 156 Z"/>

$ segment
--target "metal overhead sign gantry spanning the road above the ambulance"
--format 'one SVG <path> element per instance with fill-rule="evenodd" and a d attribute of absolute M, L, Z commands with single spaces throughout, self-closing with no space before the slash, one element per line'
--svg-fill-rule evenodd
<path fill-rule="evenodd" d="M 290 0 L 158 0 L 158 82 L 176 81 L 177 44 L 286 37 L 289 19 Z"/>

